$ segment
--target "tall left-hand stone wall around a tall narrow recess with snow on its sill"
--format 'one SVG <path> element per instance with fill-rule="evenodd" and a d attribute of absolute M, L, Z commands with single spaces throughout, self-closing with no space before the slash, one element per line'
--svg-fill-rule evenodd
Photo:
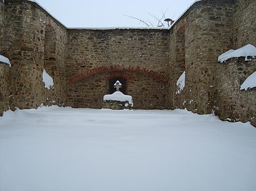
<path fill-rule="evenodd" d="M 48 90 L 44 88 L 42 82 L 46 26 L 52 26 L 56 33 L 63 37 L 56 39 L 59 44 L 56 50 L 59 50 L 62 57 L 56 65 L 61 65 L 60 70 L 64 70 L 62 73 L 65 73 L 63 69 L 63 42 L 67 36 L 65 28 L 36 3 L 22 0 L 5 1 L 5 23 L 2 53 L 12 63 L 9 77 L 10 108 L 36 108 L 47 100 Z M 53 77 L 53 80 L 55 80 L 56 93 L 48 95 L 52 96 L 49 99 L 64 97 L 65 75 Z"/>

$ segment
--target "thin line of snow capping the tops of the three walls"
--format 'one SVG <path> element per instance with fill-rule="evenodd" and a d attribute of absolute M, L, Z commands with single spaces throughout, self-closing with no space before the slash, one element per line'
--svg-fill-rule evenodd
<path fill-rule="evenodd" d="M 181 18 L 182 15 L 185 14 L 185 12 L 187 12 L 196 2 L 199 1 L 205 1 L 205 0 L 195 0 L 193 3 L 191 3 L 190 6 L 188 6 L 187 9 L 185 9 L 185 11 L 175 20 L 174 23 L 172 23 L 171 27 L 71 27 L 68 28 L 67 26 L 65 26 L 65 24 L 61 23 L 59 19 L 55 18 L 55 16 L 53 16 L 46 8 L 44 8 L 42 5 L 40 5 L 40 3 L 38 3 L 36 0 L 27 0 L 30 2 L 34 2 L 36 4 L 38 4 L 44 11 L 48 12 L 49 15 L 52 16 L 52 18 L 54 18 L 55 20 L 57 20 L 57 22 L 59 22 L 61 25 L 63 25 L 65 28 L 67 29 L 88 29 L 88 30 L 113 30 L 113 29 L 159 29 L 159 30 L 163 30 L 163 29 L 170 29 L 172 26 L 174 26 L 174 24 L 177 22 L 177 20 L 179 20 Z"/>

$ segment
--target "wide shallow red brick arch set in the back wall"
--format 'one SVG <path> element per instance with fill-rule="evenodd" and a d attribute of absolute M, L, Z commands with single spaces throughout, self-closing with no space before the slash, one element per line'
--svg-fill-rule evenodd
<path fill-rule="evenodd" d="M 168 82 L 168 77 L 166 77 L 163 74 L 158 73 L 154 70 L 149 70 L 144 67 L 139 66 L 123 66 L 123 65 L 112 65 L 112 66 L 98 66 L 94 67 L 93 69 L 86 70 L 83 73 L 77 74 L 69 79 L 69 83 L 75 83 L 78 82 L 84 78 L 91 77 L 92 75 L 98 74 L 98 73 L 113 73 L 113 72 L 122 72 L 122 71 L 132 71 L 136 73 L 141 73 L 148 75 L 151 78 L 155 78 L 157 80 L 160 80 L 164 83 Z"/>

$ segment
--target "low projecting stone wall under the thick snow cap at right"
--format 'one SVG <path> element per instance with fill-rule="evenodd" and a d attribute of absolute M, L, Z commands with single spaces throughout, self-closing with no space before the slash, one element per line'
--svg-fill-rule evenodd
<path fill-rule="evenodd" d="M 220 72 L 216 74 L 217 108 L 214 110 L 221 120 L 246 122 L 255 117 L 256 89 L 240 90 L 241 84 L 254 71 L 256 61 L 245 61 L 244 57 L 220 63 Z"/>

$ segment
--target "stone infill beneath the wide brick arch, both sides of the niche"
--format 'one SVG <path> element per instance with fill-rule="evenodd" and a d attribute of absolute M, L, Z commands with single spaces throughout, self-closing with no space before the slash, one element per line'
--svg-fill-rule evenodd
<path fill-rule="evenodd" d="M 147 75 L 130 73 L 127 94 L 133 96 L 134 109 L 166 109 L 167 87 Z M 73 84 L 73 107 L 98 108 L 103 105 L 103 96 L 109 94 L 106 73 L 93 75 Z"/>

